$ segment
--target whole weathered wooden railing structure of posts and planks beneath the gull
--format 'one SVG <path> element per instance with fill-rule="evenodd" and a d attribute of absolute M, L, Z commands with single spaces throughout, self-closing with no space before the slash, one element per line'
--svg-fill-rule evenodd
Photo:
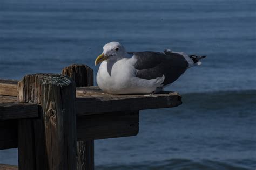
<path fill-rule="evenodd" d="M 20 170 L 94 169 L 94 140 L 135 136 L 139 110 L 181 104 L 178 93 L 166 91 L 103 93 L 86 65 L 71 65 L 62 74 L 0 80 L 0 149 L 18 147 Z M 16 167 L 0 164 L 8 168 Z"/>

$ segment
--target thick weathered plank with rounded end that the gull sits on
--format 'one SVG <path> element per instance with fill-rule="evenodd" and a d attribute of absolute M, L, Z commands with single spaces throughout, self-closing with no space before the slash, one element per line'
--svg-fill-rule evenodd
<path fill-rule="evenodd" d="M 103 93 L 98 87 L 77 88 L 77 116 L 156 108 L 171 108 L 180 105 L 181 95 L 162 91 L 153 95 L 114 95 Z"/>

